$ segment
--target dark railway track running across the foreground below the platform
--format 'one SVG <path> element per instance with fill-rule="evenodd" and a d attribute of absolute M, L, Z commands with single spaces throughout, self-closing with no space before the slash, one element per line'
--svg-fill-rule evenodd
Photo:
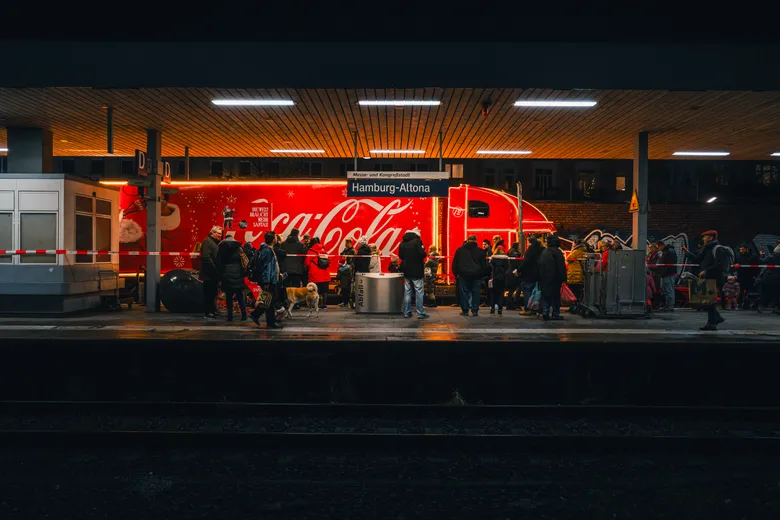
<path fill-rule="evenodd" d="M 0 439 L 5 446 L 780 453 L 780 409 L 5 401 Z"/>

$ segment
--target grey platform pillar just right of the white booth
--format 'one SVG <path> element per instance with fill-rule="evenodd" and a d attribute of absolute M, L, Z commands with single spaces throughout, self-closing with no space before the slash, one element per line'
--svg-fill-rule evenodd
<path fill-rule="evenodd" d="M 159 130 L 146 130 L 146 160 L 152 171 L 149 172 L 151 186 L 147 189 L 146 202 L 146 250 L 160 251 L 160 208 L 162 198 L 162 183 L 160 177 L 160 162 L 162 161 L 162 133 Z M 146 312 L 160 311 L 160 257 L 146 257 Z"/>

